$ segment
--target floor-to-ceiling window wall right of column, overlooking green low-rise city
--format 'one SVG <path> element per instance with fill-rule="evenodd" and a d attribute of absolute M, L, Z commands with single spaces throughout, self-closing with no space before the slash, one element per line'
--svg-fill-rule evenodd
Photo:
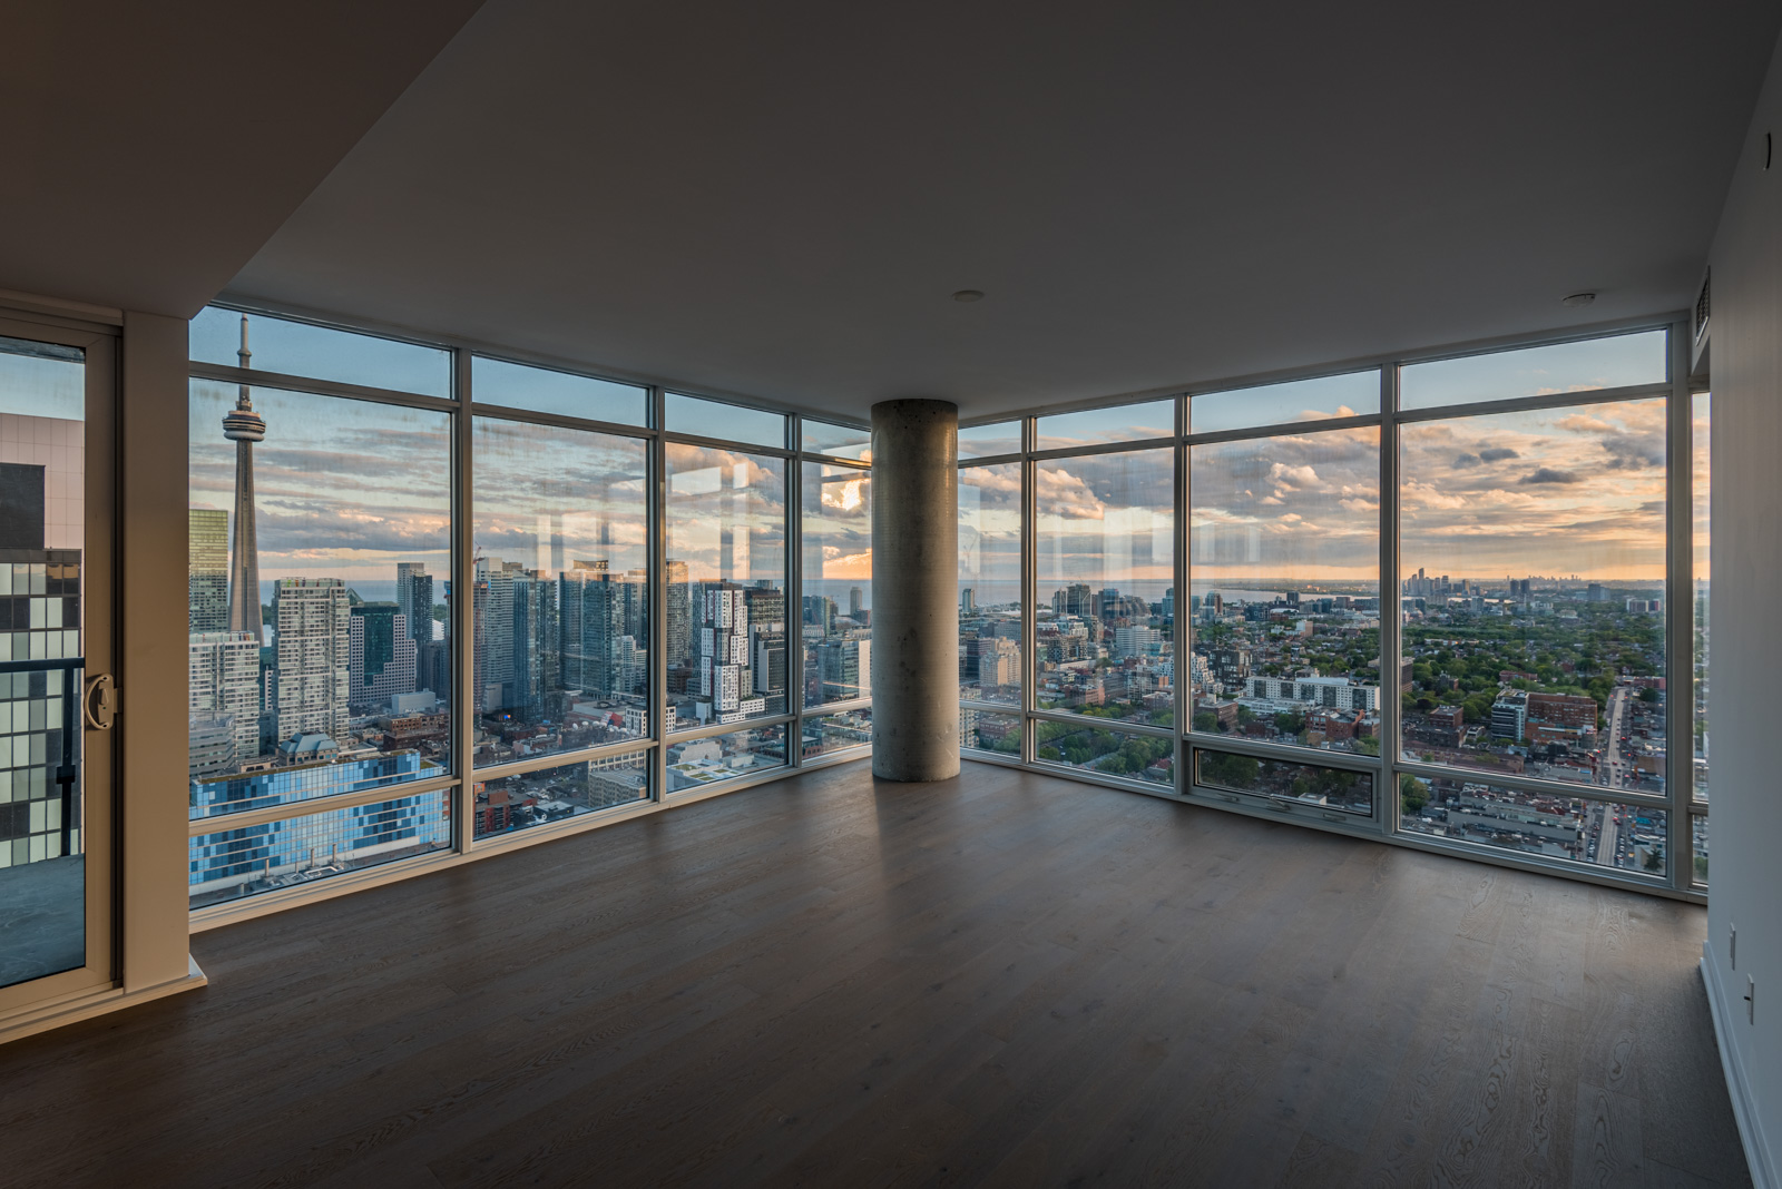
<path fill-rule="evenodd" d="M 1700 888 L 1707 395 L 1675 333 L 962 429 L 968 755 Z M 1028 566 L 1003 616 L 991 525 Z"/>

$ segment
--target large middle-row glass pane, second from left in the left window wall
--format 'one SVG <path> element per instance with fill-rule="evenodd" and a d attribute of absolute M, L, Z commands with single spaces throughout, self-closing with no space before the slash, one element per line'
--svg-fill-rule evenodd
<path fill-rule="evenodd" d="M 478 417 L 476 765 L 649 735 L 649 449 Z"/>

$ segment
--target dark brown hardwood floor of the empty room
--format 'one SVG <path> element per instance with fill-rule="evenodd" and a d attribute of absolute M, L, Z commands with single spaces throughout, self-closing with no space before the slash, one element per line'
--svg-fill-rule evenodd
<path fill-rule="evenodd" d="M 203 933 L 0 1047 L 0 1184 L 1748 1184 L 1704 922 L 850 764 Z"/>

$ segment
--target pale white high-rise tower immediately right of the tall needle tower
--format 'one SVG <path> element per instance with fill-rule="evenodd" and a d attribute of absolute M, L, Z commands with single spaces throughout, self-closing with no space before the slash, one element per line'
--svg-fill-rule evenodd
<path fill-rule="evenodd" d="M 340 740 L 347 716 L 349 619 L 340 578 L 280 578 L 273 586 L 278 739 Z"/>

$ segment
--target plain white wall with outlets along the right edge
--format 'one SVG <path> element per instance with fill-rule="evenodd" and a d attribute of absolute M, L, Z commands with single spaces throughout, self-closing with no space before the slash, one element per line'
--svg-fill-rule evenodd
<path fill-rule="evenodd" d="M 1764 135 L 1777 139 L 1764 169 Z M 1782 43 L 1714 237 L 1709 993 L 1752 1175 L 1782 1157 Z M 1727 931 L 1737 926 L 1737 970 Z M 1746 1018 L 1746 975 L 1757 1020 Z M 1743 1098 L 1743 1102 L 1741 1102 Z M 1753 1152 L 1755 1148 L 1755 1152 Z"/>

